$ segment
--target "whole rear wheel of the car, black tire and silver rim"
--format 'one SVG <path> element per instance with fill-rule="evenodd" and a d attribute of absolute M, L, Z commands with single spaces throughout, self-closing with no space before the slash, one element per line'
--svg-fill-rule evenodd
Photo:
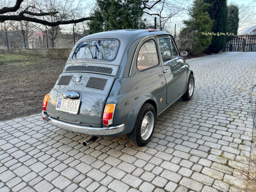
<path fill-rule="evenodd" d="M 146 145 L 154 132 L 156 110 L 153 105 L 144 103 L 131 133 L 128 134 L 130 143 L 137 146 Z"/>

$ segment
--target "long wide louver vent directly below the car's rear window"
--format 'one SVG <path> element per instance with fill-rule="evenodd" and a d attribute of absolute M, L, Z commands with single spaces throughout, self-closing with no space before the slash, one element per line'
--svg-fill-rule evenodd
<path fill-rule="evenodd" d="M 102 67 L 102 66 L 92 66 L 92 65 L 73 65 L 73 66 L 68 66 L 65 70 L 65 72 L 70 72 L 70 71 L 83 71 L 83 72 L 92 72 L 92 73 L 111 75 L 113 68 Z"/>

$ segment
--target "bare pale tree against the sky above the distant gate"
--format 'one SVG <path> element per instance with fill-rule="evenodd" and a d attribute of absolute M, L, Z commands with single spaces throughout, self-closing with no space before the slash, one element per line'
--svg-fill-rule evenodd
<path fill-rule="evenodd" d="M 245 29 L 252 27 L 255 25 L 253 20 L 256 12 L 254 11 L 254 7 L 247 4 L 239 5 L 239 22 L 238 22 L 238 33 L 242 33 Z"/>

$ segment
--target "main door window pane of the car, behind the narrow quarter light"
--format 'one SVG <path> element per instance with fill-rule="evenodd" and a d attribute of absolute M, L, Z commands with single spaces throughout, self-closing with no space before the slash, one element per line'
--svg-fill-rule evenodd
<path fill-rule="evenodd" d="M 172 60 L 172 51 L 171 44 L 169 38 L 161 38 L 159 39 L 159 47 L 161 52 L 161 58 L 163 62 Z"/>

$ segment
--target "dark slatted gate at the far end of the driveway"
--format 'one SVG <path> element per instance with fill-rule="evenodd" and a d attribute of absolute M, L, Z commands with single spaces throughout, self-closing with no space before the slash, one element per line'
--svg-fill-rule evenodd
<path fill-rule="evenodd" d="M 225 51 L 256 51 L 256 35 L 236 36 L 227 42 Z"/>

